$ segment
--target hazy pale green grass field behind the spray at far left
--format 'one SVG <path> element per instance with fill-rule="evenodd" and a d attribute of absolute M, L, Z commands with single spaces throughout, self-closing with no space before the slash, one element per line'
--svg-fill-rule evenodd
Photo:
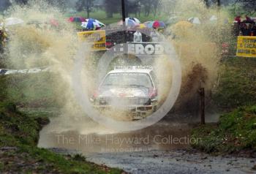
<path fill-rule="evenodd" d="M 61 107 L 67 84 L 50 72 L 0 76 L 0 97 L 22 107 Z M 1 102 L 0 99 L 0 102 Z"/>

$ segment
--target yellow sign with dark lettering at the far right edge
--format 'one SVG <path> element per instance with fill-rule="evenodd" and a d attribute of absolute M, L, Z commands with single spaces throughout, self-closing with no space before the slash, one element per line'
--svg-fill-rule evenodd
<path fill-rule="evenodd" d="M 256 37 L 238 37 L 236 56 L 256 57 Z"/>

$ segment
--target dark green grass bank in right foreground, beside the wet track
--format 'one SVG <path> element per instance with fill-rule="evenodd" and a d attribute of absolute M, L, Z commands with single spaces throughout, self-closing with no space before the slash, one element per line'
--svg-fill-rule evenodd
<path fill-rule="evenodd" d="M 201 138 L 192 146 L 207 153 L 256 152 L 256 105 L 224 114 L 218 124 L 198 126 L 192 137 Z"/>

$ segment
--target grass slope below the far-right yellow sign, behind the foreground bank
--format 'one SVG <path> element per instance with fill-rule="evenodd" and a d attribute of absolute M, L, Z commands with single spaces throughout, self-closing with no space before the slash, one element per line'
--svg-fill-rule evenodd
<path fill-rule="evenodd" d="M 224 60 L 213 99 L 224 110 L 256 105 L 256 58 L 230 57 Z"/>

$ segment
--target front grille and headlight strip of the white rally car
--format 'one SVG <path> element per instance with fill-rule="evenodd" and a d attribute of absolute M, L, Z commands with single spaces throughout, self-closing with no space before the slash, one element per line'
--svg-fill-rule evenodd
<path fill-rule="evenodd" d="M 101 98 L 99 105 L 151 105 L 149 98 Z"/>

